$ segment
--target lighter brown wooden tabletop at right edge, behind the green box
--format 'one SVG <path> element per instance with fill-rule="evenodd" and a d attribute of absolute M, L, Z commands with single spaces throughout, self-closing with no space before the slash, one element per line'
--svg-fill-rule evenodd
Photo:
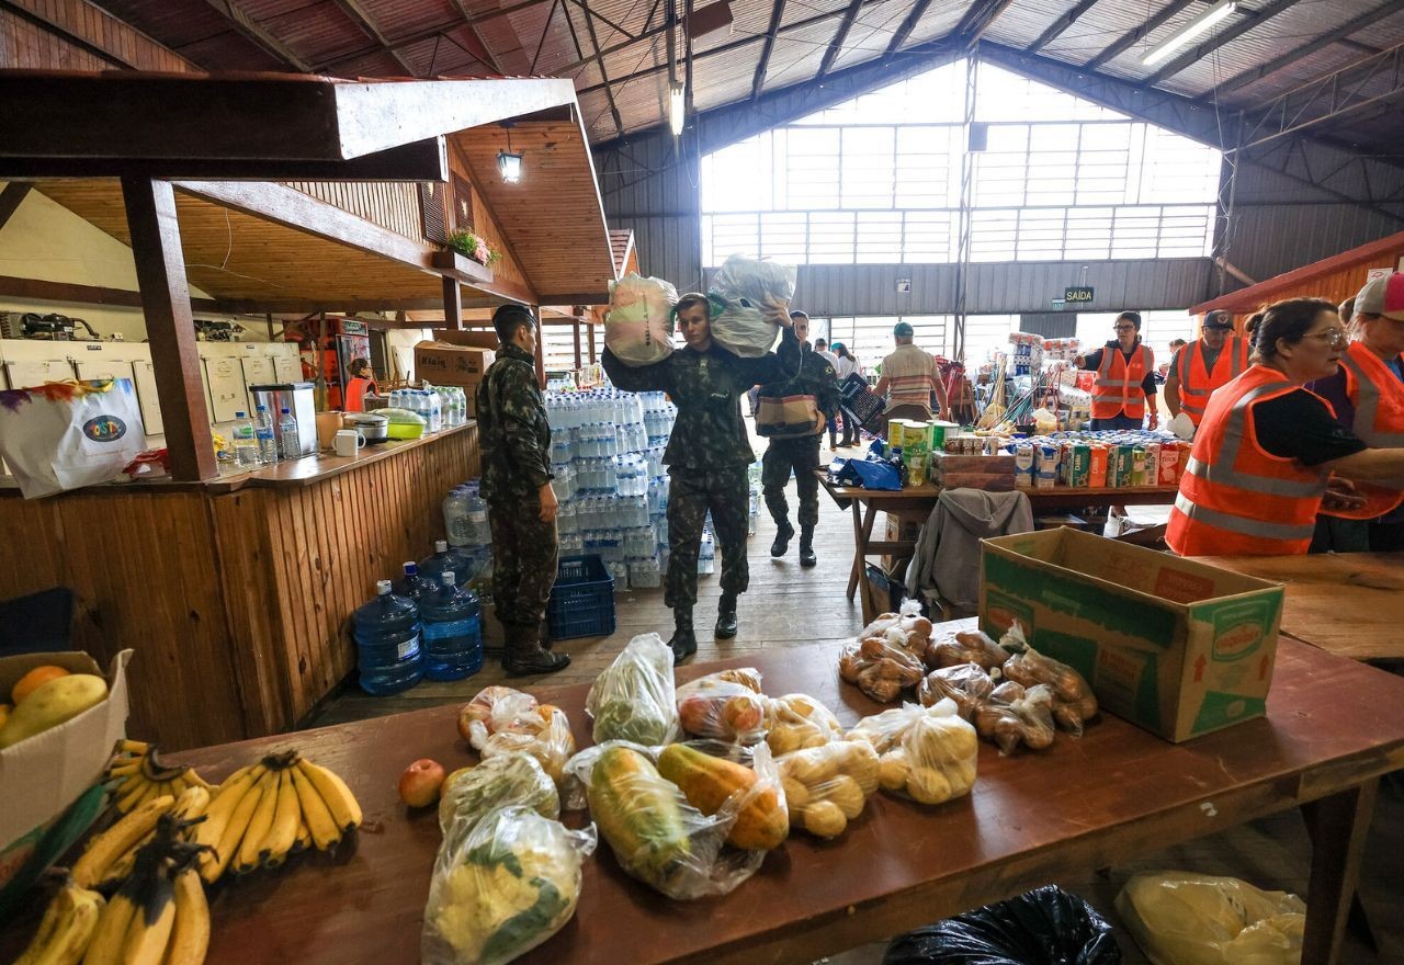
<path fill-rule="evenodd" d="M 1195 558 L 1285 583 L 1285 634 L 1356 661 L 1404 658 L 1404 553 Z"/>

